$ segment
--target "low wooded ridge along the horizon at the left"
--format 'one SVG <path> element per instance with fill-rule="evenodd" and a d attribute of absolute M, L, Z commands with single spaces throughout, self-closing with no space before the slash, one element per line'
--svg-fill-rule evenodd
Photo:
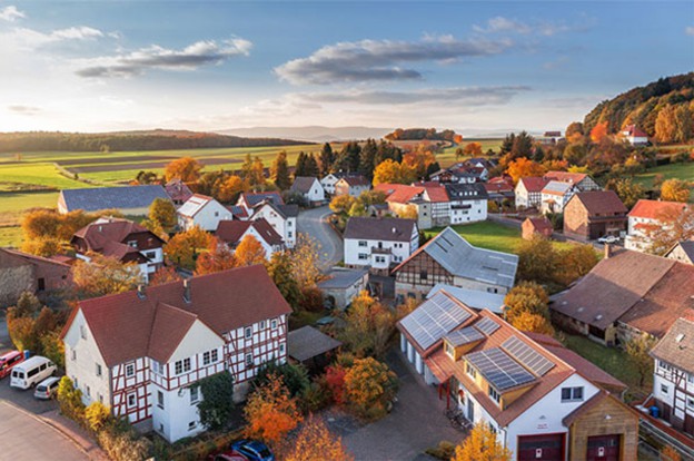
<path fill-rule="evenodd" d="M 241 138 L 214 133 L 148 130 L 118 133 L 0 133 L 0 153 L 133 151 L 222 147 L 294 146 L 306 143 L 280 138 Z"/>

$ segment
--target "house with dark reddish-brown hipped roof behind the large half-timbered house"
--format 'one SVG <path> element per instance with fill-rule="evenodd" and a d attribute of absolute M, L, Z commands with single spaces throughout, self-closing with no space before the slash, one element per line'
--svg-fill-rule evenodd
<path fill-rule="evenodd" d="M 163 241 L 128 219 L 101 217 L 72 235 L 70 244 L 79 259 L 90 262 L 95 253 L 135 263 L 146 279 L 163 266 Z"/>

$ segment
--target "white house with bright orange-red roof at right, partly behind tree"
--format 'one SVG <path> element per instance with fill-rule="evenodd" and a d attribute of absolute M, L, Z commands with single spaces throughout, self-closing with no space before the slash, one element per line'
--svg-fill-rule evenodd
<path fill-rule="evenodd" d="M 636 252 L 645 252 L 653 244 L 651 233 L 666 226 L 686 208 L 680 202 L 641 199 L 627 214 L 628 226 L 624 247 Z"/>

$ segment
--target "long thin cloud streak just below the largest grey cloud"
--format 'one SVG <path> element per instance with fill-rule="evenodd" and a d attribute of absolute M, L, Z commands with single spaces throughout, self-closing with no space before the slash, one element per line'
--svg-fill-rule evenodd
<path fill-rule="evenodd" d="M 450 102 L 465 106 L 490 106 L 508 102 L 514 96 L 531 88 L 504 87 L 453 87 L 427 88 L 415 91 L 348 91 L 343 94 L 314 92 L 298 97 L 315 102 L 356 102 L 365 105 L 407 105 L 422 102 Z"/>

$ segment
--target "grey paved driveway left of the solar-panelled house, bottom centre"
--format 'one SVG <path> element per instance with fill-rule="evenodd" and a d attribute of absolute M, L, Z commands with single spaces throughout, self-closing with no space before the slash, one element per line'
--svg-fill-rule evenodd
<path fill-rule="evenodd" d="M 356 460 L 433 460 L 424 454 L 442 440 L 458 444 L 463 432 L 444 415 L 446 400 L 438 400 L 437 389 L 426 385 L 423 376 L 407 364 L 399 351 L 393 351 L 388 364 L 400 380 L 393 412 L 380 421 L 361 428 L 333 428 Z M 330 423 L 328 423 L 330 424 Z M 345 430 L 347 429 L 347 430 Z"/>

